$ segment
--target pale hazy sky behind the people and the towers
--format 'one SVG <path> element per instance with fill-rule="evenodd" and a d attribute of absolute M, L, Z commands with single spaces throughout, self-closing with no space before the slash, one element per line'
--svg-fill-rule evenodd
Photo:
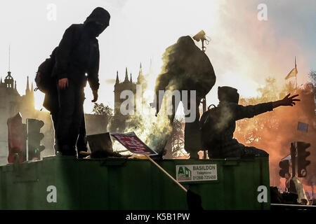
<path fill-rule="evenodd" d="M 56 7 L 56 20 L 49 20 Z M 265 3 L 268 20 L 258 20 L 259 3 Z M 185 1 L 185 0 L 89 0 L 1 1 L 0 74 L 11 71 L 18 92 L 25 94 L 26 76 L 34 80 L 37 67 L 60 42 L 65 29 L 84 22 L 93 8 L 102 6 L 111 14 L 110 27 L 99 36 L 99 102 L 113 106 L 116 71 L 124 79 L 127 66 L 133 80 L 142 62 L 145 72 L 150 59 L 155 74 L 162 66 L 162 53 L 180 36 L 204 29 L 211 37 L 206 54 L 216 71 L 217 82 L 207 96 L 217 103 L 218 85 L 237 87 L 242 96 L 255 96 L 265 78 L 274 76 L 279 85 L 298 66 L 298 85 L 316 69 L 316 1 Z M 200 46 L 200 43 L 197 43 Z M 112 83 L 111 83 L 112 82 Z M 35 92 L 37 109 L 43 94 Z M 86 88 L 85 112 L 91 113 L 92 94 Z"/>

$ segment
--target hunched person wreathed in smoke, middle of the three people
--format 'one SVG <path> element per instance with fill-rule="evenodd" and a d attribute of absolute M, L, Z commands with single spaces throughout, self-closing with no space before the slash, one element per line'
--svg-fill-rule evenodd
<path fill-rule="evenodd" d="M 198 158 L 197 152 L 202 148 L 199 142 L 199 104 L 215 84 L 216 76 L 213 66 L 209 57 L 195 45 L 190 36 L 181 36 L 177 43 L 166 48 L 162 60 L 164 62 L 162 73 L 157 77 L 154 88 L 157 96 L 159 96 L 159 90 L 196 91 L 195 102 L 187 99 L 180 100 L 182 102 L 187 100 L 188 108 L 190 104 L 195 104 L 195 121 L 185 123 L 185 151 L 190 153 L 190 158 Z M 159 113 L 162 100 L 162 97 L 158 99 L 157 113 Z M 172 114 L 169 116 L 170 123 L 173 122 L 178 102 L 173 102 L 172 107 Z M 166 140 L 168 139 L 163 139 L 162 148 Z"/>

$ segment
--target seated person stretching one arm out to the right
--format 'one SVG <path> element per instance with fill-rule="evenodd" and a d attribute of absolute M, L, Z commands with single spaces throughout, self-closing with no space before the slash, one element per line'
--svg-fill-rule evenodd
<path fill-rule="evenodd" d="M 239 93 L 233 87 L 218 87 L 219 104 L 216 108 L 206 111 L 201 117 L 202 142 L 209 152 L 209 158 L 243 158 L 268 157 L 268 153 L 240 144 L 233 138 L 236 121 L 243 118 L 253 118 L 261 113 L 272 111 L 278 106 L 294 106 L 298 94 L 284 99 L 263 104 L 239 105 Z"/>

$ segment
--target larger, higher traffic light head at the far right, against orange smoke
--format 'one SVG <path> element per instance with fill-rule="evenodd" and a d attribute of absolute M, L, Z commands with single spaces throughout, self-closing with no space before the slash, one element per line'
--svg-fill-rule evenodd
<path fill-rule="evenodd" d="M 304 141 L 298 141 L 297 142 L 297 172 L 298 177 L 305 177 L 306 167 L 310 165 L 310 161 L 306 160 L 308 155 L 310 155 L 310 152 L 306 151 L 306 148 L 310 147 L 309 143 L 306 143 Z"/>

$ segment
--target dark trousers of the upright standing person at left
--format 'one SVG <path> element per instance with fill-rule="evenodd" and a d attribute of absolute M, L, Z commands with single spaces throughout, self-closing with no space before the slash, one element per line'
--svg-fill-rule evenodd
<path fill-rule="evenodd" d="M 75 155 L 76 144 L 78 151 L 86 151 L 84 87 L 78 87 L 70 80 L 67 88 L 58 88 L 58 105 L 58 112 L 52 111 L 58 151 L 63 155 Z"/>

